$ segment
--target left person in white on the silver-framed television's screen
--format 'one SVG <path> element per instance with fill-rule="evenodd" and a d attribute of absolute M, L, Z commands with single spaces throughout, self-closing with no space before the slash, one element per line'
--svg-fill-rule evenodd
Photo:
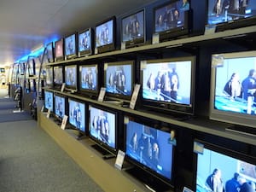
<path fill-rule="evenodd" d="M 232 73 L 230 80 L 224 86 L 224 93 L 231 99 L 241 96 L 241 83 L 238 73 Z"/>

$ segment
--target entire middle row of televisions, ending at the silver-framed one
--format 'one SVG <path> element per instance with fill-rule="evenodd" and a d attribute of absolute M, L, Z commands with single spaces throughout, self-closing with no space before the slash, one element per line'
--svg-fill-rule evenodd
<path fill-rule="evenodd" d="M 137 109 L 193 116 L 196 115 L 195 60 L 195 56 L 186 56 L 140 63 L 113 61 L 48 67 L 46 87 L 58 90 L 65 82 L 66 90 L 92 99 L 105 87 L 104 100 L 127 103 L 140 79 Z M 140 68 L 140 77 L 136 77 L 136 68 Z M 247 126 L 255 134 L 256 51 L 212 55 L 211 76 L 210 119 L 241 125 L 244 129 Z"/>

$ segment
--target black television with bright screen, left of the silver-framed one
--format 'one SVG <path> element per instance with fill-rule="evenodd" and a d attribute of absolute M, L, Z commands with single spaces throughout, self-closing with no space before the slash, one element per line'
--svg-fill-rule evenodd
<path fill-rule="evenodd" d="M 194 114 L 195 56 L 141 61 L 142 105 Z"/>

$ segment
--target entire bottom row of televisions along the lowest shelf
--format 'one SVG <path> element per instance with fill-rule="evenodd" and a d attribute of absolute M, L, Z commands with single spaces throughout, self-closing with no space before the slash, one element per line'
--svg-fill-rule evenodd
<path fill-rule="evenodd" d="M 155 191 L 175 187 L 177 148 L 182 143 L 179 143 L 179 129 L 174 125 L 158 125 L 152 119 L 119 114 L 111 108 L 86 103 L 49 90 L 45 90 L 44 101 L 45 108 L 51 110 L 57 119 L 62 119 L 66 114 L 67 127 L 77 130 L 78 137 L 92 139 L 96 143 L 92 147 L 101 148 L 103 155 L 111 154 L 115 157 L 120 148 L 124 150 L 125 160 L 140 168 L 127 172 L 135 173 L 136 177 L 142 175 L 146 179 L 143 182 Z M 218 187 L 222 189 L 218 191 L 224 191 L 224 185 L 226 184 L 227 189 L 228 181 L 234 173 L 240 176 L 241 183 L 236 187 L 241 191 L 244 188 L 242 184 L 247 184 L 249 189 L 251 183 L 253 186 L 256 182 L 255 156 L 237 153 L 197 139 L 194 145 L 196 191 L 214 191 L 211 177 L 219 177 L 221 183 Z M 142 172 L 138 173 L 139 170 Z M 159 185 L 155 184 L 158 182 Z M 253 192 L 255 189 L 245 191 Z"/>

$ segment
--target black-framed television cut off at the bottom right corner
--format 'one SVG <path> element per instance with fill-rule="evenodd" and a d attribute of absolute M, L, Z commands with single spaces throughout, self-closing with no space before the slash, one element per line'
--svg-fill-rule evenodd
<path fill-rule="evenodd" d="M 195 144 L 200 146 L 195 154 L 196 191 L 213 191 L 213 186 L 215 191 L 255 191 L 255 156 L 211 143 Z"/>

